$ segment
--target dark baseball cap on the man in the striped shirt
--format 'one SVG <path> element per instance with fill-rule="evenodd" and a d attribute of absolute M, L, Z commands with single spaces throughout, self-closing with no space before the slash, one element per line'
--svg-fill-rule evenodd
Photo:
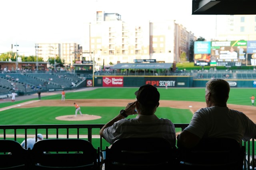
<path fill-rule="evenodd" d="M 145 84 L 135 92 L 136 98 L 140 104 L 148 107 L 155 107 L 160 100 L 160 93 L 157 88 L 151 84 Z"/>

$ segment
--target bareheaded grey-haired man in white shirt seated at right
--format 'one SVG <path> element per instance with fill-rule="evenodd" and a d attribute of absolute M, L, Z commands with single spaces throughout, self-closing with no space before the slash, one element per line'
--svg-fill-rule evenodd
<path fill-rule="evenodd" d="M 256 125 L 244 113 L 229 109 L 228 82 L 213 79 L 206 83 L 206 108 L 198 109 L 180 135 L 178 147 L 193 148 L 202 138 L 230 138 L 242 145 L 256 137 Z"/>

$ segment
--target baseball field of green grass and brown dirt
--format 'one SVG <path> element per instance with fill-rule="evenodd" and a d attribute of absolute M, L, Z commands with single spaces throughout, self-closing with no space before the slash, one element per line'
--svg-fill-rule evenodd
<path fill-rule="evenodd" d="M 34 98 L 29 100 L 1 103 L 1 125 L 105 124 L 129 102 L 134 102 L 134 92 L 138 90 L 138 88 L 90 89 L 79 92 L 66 91 L 65 101 L 61 101 L 61 94 L 48 92 L 41 94 L 41 100 L 34 95 Z M 189 123 L 194 111 L 206 107 L 205 88 L 158 88 L 158 91 L 160 106 L 156 115 L 170 119 L 173 123 Z M 255 89 L 231 88 L 228 107 L 244 112 L 256 123 L 255 106 L 252 106 L 250 100 L 252 94 L 256 94 Z M 78 113 L 77 117 L 74 117 L 74 102 L 81 107 L 83 116 Z M 135 116 L 132 115 L 129 118 Z M 176 131 L 179 132 L 180 129 Z M 44 134 L 44 131 L 38 131 L 38 133 Z M 70 134 L 72 133 L 75 134 L 76 131 L 70 131 Z M 98 135 L 99 131 L 95 129 L 92 133 Z M 32 131 L 31 134 L 33 134 Z M 19 142 L 22 140 L 18 139 Z M 98 142 L 94 145 L 98 145 Z M 109 144 L 104 141 L 103 145 Z"/>

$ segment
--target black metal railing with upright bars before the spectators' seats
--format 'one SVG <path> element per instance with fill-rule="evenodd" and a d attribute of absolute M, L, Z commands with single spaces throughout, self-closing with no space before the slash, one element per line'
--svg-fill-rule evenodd
<path fill-rule="evenodd" d="M 183 131 L 188 124 L 174 124 L 176 128 L 180 128 Z M 100 129 L 104 124 L 77 124 L 77 125 L 0 125 L 0 139 L 11 138 L 17 141 L 17 138 L 25 139 L 25 146 L 27 146 L 26 139 L 29 137 L 35 137 L 39 132 L 45 131 L 45 138 L 87 138 L 92 143 L 93 138 L 100 139 L 100 149 L 102 150 L 102 137 L 99 136 Z M 97 134 L 93 134 L 97 132 Z M 36 139 L 37 140 L 37 139 Z M 246 156 L 244 156 L 244 169 L 250 169 L 250 160 L 254 161 L 254 139 L 250 142 L 243 142 L 243 145 L 247 147 Z M 251 148 L 252 147 L 252 148 Z M 250 151 L 252 150 L 252 151 Z M 246 164 L 247 160 L 247 164 Z M 254 168 L 252 168 L 254 170 Z"/>

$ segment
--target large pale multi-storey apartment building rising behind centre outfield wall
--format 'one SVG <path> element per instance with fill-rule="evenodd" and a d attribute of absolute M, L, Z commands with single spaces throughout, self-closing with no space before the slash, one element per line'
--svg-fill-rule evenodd
<path fill-rule="evenodd" d="M 180 61 L 184 51 L 189 56 L 193 33 L 174 21 L 126 23 L 116 13 L 96 12 L 89 25 L 89 48 L 96 64 L 134 63 L 134 59 L 157 62 Z"/>

